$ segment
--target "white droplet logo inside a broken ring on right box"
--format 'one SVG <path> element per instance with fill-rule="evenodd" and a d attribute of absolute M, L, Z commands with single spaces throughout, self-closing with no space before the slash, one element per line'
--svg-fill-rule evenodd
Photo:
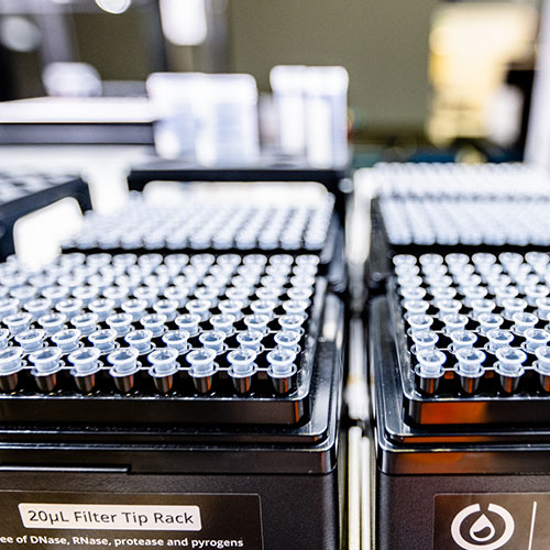
<path fill-rule="evenodd" d="M 464 509 L 459 512 L 452 520 L 451 535 L 454 542 L 457 542 L 460 548 L 463 548 L 464 550 L 496 550 L 497 548 L 502 548 L 506 544 L 506 542 L 508 542 L 508 540 L 512 539 L 515 524 L 510 513 L 506 508 L 496 504 L 490 504 L 487 506 L 487 510 L 493 514 L 497 514 L 504 520 L 505 527 L 503 535 L 498 539 L 493 540 L 496 535 L 495 526 L 485 514 L 481 514 L 469 530 L 469 536 L 472 540 L 474 540 L 474 542 L 468 542 L 461 534 L 462 524 L 472 514 L 481 513 L 481 506 L 479 504 L 472 504 L 471 506 L 466 506 Z"/>

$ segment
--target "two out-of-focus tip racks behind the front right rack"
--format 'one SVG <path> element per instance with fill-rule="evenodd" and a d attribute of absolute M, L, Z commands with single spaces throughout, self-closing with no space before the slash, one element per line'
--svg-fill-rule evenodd
<path fill-rule="evenodd" d="M 550 246 L 550 186 L 542 169 L 521 164 L 381 164 L 372 172 L 371 283 L 385 278 L 393 253 Z"/>

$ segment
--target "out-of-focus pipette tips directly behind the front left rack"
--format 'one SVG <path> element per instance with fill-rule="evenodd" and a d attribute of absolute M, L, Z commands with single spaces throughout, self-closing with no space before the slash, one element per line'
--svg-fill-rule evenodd
<path fill-rule="evenodd" d="M 122 211 L 89 212 L 65 250 L 277 250 L 318 251 L 326 240 L 334 197 L 315 206 L 221 201 L 189 194 L 173 205 L 134 196 Z"/>

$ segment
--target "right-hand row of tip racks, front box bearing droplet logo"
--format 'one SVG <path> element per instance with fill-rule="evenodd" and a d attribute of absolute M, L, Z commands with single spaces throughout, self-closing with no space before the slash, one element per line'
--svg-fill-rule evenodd
<path fill-rule="evenodd" d="M 377 548 L 544 548 L 550 180 L 520 165 L 373 176 Z"/>

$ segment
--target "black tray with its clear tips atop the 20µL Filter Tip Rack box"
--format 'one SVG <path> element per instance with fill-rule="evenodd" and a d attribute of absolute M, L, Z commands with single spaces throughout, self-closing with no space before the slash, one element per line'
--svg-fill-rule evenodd
<path fill-rule="evenodd" d="M 297 424 L 327 286 L 318 261 L 66 254 L 30 272 L 11 258 L 0 265 L 0 419 Z"/>

